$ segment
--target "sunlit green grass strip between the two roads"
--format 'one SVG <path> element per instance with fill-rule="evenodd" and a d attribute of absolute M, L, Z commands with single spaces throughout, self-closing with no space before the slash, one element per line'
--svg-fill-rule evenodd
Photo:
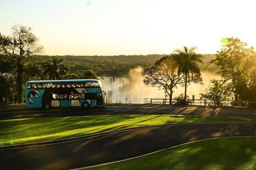
<path fill-rule="evenodd" d="M 0 121 L 0 146 L 71 138 L 144 125 L 180 122 L 256 121 L 256 119 L 220 116 L 185 115 L 182 118 L 171 118 L 170 116 L 99 115 L 2 120 Z"/>

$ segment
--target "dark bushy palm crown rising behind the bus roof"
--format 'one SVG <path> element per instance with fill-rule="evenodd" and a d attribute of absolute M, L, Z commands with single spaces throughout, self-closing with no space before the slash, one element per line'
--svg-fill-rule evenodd
<path fill-rule="evenodd" d="M 49 76 L 49 79 L 58 80 L 61 76 L 66 75 L 68 71 L 64 62 L 63 58 L 52 57 L 45 65 L 44 73 Z"/>

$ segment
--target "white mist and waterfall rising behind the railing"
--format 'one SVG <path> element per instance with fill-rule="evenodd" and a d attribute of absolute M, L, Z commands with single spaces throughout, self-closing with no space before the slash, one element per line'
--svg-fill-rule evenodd
<path fill-rule="evenodd" d="M 119 100 L 122 103 L 126 103 L 126 98 L 131 103 L 143 103 L 144 98 L 164 98 L 165 92 L 158 90 L 156 87 L 147 87 L 143 83 L 143 76 L 141 76 L 142 68 L 136 67 L 130 70 L 127 78 L 115 78 L 115 77 L 102 77 L 101 83 L 104 91 L 107 93 L 107 97 L 112 100 L 113 103 Z M 209 81 L 213 79 L 214 74 L 203 72 L 203 84 L 191 84 L 187 88 L 187 95 L 192 98 L 195 95 L 195 99 L 199 99 L 199 94 L 203 93 L 208 86 Z M 178 87 L 174 89 L 173 98 L 180 94 L 184 94 L 184 87 Z M 168 97 L 167 97 L 168 98 Z"/>

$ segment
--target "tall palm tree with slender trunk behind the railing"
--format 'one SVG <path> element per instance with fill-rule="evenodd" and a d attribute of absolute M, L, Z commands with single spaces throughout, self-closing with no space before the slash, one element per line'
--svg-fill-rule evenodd
<path fill-rule="evenodd" d="M 201 75 L 201 69 L 198 63 L 203 63 L 203 56 L 197 54 L 195 52 L 196 49 L 197 47 L 187 48 L 184 46 L 183 49 L 176 49 L 174 51 L 174 57 L 179 65 L 179 72 L 185 75 L 184 99 L 187 97 L 187 82 L 193 81 L 193 74 Z"/>

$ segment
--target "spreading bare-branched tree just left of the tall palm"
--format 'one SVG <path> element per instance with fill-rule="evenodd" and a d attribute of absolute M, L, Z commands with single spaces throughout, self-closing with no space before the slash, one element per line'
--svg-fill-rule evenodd
<path fill-rule="evenodd" d="M 184 75 L 178 72 L 178 64 L 173 55 L 162 57 L 155 65 L 142 71 L 144 84 L 149 87 L 163 89 L 169 96 L 170 103 L 174 88 L 184 83 Z"/>

